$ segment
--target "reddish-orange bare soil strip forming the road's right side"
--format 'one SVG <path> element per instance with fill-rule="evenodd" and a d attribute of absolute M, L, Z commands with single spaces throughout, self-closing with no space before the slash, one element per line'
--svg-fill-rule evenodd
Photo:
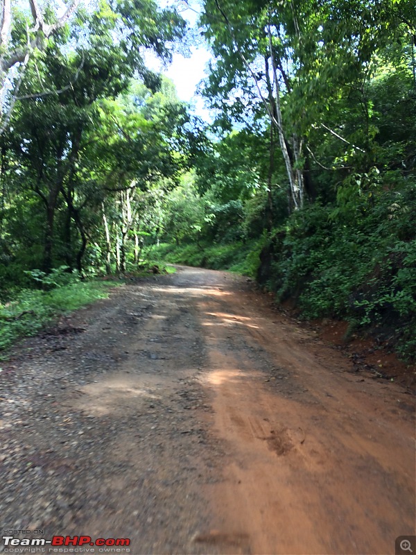
<path fill-rule="evenodd" d="M 232 280 L 175 276 L 205 285 L 202 379 L 227 452 L 224 481 L 207 490 L 216 526 L 196 540 L 226 553 L 394 553 L 397 536 L 415 534 L 413 398 L 349 373 L 340 353 Z"/>

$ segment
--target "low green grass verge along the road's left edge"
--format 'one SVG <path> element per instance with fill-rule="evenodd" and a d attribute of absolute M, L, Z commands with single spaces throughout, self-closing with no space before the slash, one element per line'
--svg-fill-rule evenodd
<path fill-rule="evenodd" d="M 21 289 L 8 302 L 0 303 L 0 350 L 9 348 L 24 336 L 35 335 L 60 314 L 107 298 L 120 283 L 75 282 L 51 291 Z"/>

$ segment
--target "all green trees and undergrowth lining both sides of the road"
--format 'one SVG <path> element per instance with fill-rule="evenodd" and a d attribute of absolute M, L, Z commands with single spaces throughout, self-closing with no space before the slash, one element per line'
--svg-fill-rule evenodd
<path fill-rule="evenodd" d="M 203 1 L 211 124 L 146 67 L 193 44 L 176 8 L 70 6 L 0 22 L 0 348 L 104 294 L 89 280 L 171 262 L 414 360 L 413 2 Z"/>

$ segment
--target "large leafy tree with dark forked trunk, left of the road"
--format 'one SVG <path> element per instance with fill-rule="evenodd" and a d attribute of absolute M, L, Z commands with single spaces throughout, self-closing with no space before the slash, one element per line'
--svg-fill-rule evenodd
<path fill-rule="evenodd" d="M 81 13 L 73 21 L 72 33 L 84 34 L 76 49 L 71 48 L 69 32 L 58 33 L 46 45 L 44 56 L 26 68 L 26 79 L 21 85 L 23 99 L 13 114 L 12 130 L 7 137 L 3 136 L 3 148 L 6 148 L 9 156 L 12 154 L 19 161 L 19 180 L 44 205 L 42 268 L 46 272 L 53 266 L 55 216 L 62 205 L 67 207 L 64 243 L 67 245 L 68 260 L 73 222 L 82 239 L 77 254 L 77 265 L 79 269 L 81 267 L 87 233 L 80 213 L 91 196 L 96 196 L 96 191 L 91 191 L 88 185 L 91 181 L 85 183 L 81 178 L 85 168 L 83 164 L 86 163 L 85 153 L 90 142 L 108 142 L 109 139 L 100 133 L 94 136 L 94 129 L 101 119 L 99 103 L 104 99 L 115 99 L 127 90 L 134 74 L 141 75 L 152 87 L 158 85 L 159 78 L 146 69 L 140 53 L 132 51 L 132 46 L 139 45 L 138 37 L 141 44 L 149 47 L 154 44 L 157 53 L 168 58 L 169 51 L 164 41 L 173 40 L 182 33 L 183 25 L 177 15 L 169 10 L 159 13 L 156 8 L 152 1 L 141 3 L 140 6 L 115 2 L 114 9 L 119 10 L 116 12 L 111 9 L 110 3 L 101 1 L 100 7 L 92 15 Z M 148 16 L 153 14 L 152 23 L 149 24 L 145 17 L 144 25 L 140 26 L 140 9 Z M 163 22 L 166 22 L 167 28 L 155 27 Z M 136 27 L 127 29 L 128 24 Z M 123 28 L 126 32 L 121 35 L 123 40 L 119 40 L 116 31 Z M 68 76 L 76 68 L 78 78 L 71 87 L 65 88 Z M 46 90 L 59 90 L 60 94 L 37 92 L 40 82 Z M 166 121 L 170 120 L 167 118 Z M 110 133 L 114 133 L 114 130 L 116 137 L 119 137 L 116 125 L 107 129 Z M 117 164 L 122 163 L 123 171 L 131 173 L 132 168 L 137 169 L 135 153 L 126 154 L 125 135 L 122 142 L 124 150 L 119 148 L 120 157 L 114 161 L 113 171 L 116 171 Z M 138 143 L 134 143 L 135 148 L 139 148 Z M 157 142 L 154 147 L 157 149 Z M 143 166 L 142 163 L 141 169 Z"/>

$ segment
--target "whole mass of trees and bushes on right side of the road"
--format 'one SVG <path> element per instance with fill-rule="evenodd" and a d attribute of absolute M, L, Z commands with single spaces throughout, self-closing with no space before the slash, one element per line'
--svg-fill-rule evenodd
<path fill-rule="evenodd" d="M 193 246 L 162 252 L 238 268 L 305 317 L 347 319 L 413 357 L 411 2 L 207 0 L 202 24 L 219 139 L 196 166 Z"/>

